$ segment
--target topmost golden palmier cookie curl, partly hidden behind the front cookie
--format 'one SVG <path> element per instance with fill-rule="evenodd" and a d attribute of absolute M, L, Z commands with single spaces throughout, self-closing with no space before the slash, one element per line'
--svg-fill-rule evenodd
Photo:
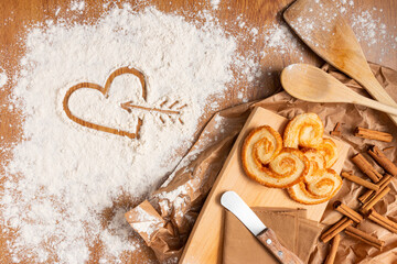
<path fill-rule="evenodd" d="M 285 147 L 313 147 L 323 142 L 324 125 L 315 113 L 302 113 L 294 117 L 283 133 Z"/>

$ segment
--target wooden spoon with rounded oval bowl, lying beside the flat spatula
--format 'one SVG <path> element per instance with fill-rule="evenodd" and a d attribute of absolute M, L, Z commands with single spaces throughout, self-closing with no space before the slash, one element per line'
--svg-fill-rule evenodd
<path fill-rule="evenodd" d="M 309 64 L 292 64 L 286 67 L 281 73 L 281 85 L 288 94 L 304 101 L 348 102 L 397 114 L 397 108 L 363 97 Z"/>

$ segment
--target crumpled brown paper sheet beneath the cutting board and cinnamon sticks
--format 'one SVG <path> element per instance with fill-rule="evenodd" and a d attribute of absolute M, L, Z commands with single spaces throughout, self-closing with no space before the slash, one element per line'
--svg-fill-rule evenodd
<path fill-rule="evenodd" d="M 397 72 L 374 64 L 371 67 L 385 90 L 397 101 Z M 368 96 L 354 80 L 334 68 L 325 65 L 323 69 L 352 89 Z M 198 140 L 182 160 L 179 167 L 171 174 L 170 178 L 160 189 L 150 196 L 150 204 L 146 202 L 137 207 L 148 212 L 155 210 L 158 212 L 158 221 L 164 222 L 163 227 L 159 226 L 158 230 L 151 232 L 150 239 L 147 240 L 148 245 L 154 251 L 160 262 L 178 261 L 204 199 L 221 170 L 236 135 L 242 130 L 251 109 L 256 106 L 272 110 L 289 119 L 298 113 L 315 112 L 324 122 L 325 133 L 332 131 L 336 122 L 343 123 L 341 140 L 352 146 L 350 156 L 356 152 L 365 152 L 366 144 L 373 143 L 378 145 L 380 150 L 386 146 L 395 146 L 393 150 L 387 151 L 386 154 L 391 161 L 396 162 L 397 160 L 396 125 L 385 113 L 366 107 L 346 103 L 311 103 L 294 99 L 286 92 L 280 92 L 261 101 L 248 102 L 219 111 L 210 120 Z M 355 138 L 353 136 L 355 127 L 389 132 L 395 140 L 391 143 L 383 143 Z M 367 155 L 365 154 L 365 156 Z M 371 158 L 368 161 L 375 164 Z M 375 167 L 377 166 L 375 165 Z M 363 176 L 350 158 L 346 160 L 344 169 L 353 170 L 356 175 Z M 380 168 L 379 172 L 382 172 Z M 397 221 L 397 180 L 393 179 L 389 186 L 391 188 L 390 193 L 375 206 L 375 210 Z M 341 215 L 331 208 L 333 200 L 339 199 L 352 208 L 357 208 L 358 201 L 356 197 L 363 194 L 363 187 L 344 180 L 342 189 L 330 201 L 330 206 L 325 210 L 321 222 L 325 226 L 332 224 L 341 218 Z M 139 219 L 139 215 L 133 219 L 127 217 L 130 223 L 137 223 Z M 131 226 L 133 227 L 133 224 Z M 364 221 L 358 228 L 385 240 L 384 249 L 378 251 L 343 235 L 335 263 L 396 263 L 396 234 L 371 221 Z M 144 232 L 140 232 L 137 229 L 136 231 L 146 239 Z M 318 242 L 309 263 L 322 263 L 326 252 L 328 244 Z"/>

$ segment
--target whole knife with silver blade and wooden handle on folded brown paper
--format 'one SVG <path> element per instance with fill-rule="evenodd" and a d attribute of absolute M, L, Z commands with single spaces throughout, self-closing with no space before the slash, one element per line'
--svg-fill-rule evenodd
<path fill-rule="evenodd" d="M 291 251 L 278 241 L 276 233 L 267 228 L 255 212 L 235 191 L 226 191 L 221 197 L 221 205 L 235 215 L 244 226 L 283 264 L 303 264 Z"/>

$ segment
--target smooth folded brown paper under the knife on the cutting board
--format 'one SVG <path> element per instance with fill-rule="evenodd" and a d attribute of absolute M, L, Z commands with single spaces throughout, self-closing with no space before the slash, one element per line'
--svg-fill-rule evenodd
<path fill-rule="evenodd" d="M 322 226 L 305 219 L 305 210 L 253 208 L 258 218 L 272 229 L 283 246 L 307 262 Z M 223 263 L 278 264 L 279 262 L 230 212 L 225 211 Z"/>

